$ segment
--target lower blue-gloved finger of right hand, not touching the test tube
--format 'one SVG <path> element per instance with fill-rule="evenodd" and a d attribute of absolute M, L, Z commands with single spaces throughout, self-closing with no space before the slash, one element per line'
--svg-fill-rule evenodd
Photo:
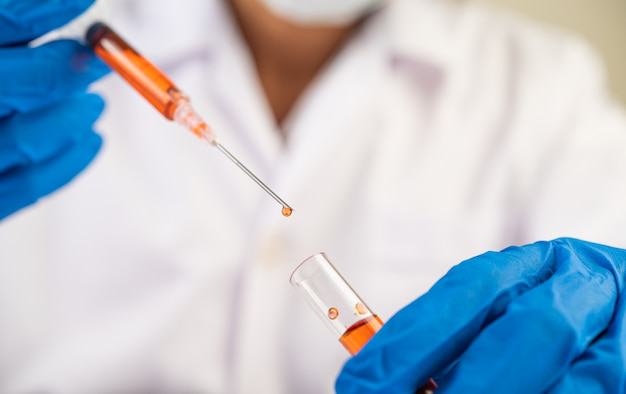
<path fill-rule="evenodd" d="M 555 254 L 554 275 L 481 331 L 440 393 L 544 392 L 606 329 L 619 294 L 613 272 L 581 248 Z"/>

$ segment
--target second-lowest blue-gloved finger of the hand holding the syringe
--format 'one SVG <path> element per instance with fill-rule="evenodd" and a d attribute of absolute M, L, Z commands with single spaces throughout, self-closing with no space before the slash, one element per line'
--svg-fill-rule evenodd
<path fill-rule="evenodd" d="M 91 132 L 103 108 L 99 96 L 81 94 L 62 104 L 0 121 L 0 173 L 56 156 Z"/>

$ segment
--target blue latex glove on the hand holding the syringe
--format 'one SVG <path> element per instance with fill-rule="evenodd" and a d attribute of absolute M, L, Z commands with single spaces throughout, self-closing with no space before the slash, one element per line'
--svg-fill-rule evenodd
<path fill-rule="evenodd" d="M 108 72 L 88 48 L 25 43 L 93 0 L 0 0 L 0 219 L 69 182 L 95 156 L 103 101 L 85 93 Z"/>

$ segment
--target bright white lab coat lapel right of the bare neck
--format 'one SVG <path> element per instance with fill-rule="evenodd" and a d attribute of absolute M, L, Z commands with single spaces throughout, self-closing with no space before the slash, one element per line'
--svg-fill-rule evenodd
<path fill-rule="evenodd" d="M 342 150 L 350 149 L 350 145 L 339 141 L 363 138 L 361 130 L 355 127 L 360 124 L 357 117 L 379 89 L 386 60 L 374 34 L 374 23 L 355 35 L 287 119 L 288 149 L 277 175 L 286 195 L 297 196 L 298 191 L 310 189 L 306 175 L 315 170 L 321 158 L 341 155 Z"/>

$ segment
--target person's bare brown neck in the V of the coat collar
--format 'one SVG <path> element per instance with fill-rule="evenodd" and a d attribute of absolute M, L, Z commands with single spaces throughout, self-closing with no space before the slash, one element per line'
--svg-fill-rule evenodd
<path fill-rule="evenodd" d="M 280 125 L 307 85 L 357 24 L 303 27 L 275 16 L 257 0 L 231 0 L 230 3 L 254 58 L 274 118 Z"/>

